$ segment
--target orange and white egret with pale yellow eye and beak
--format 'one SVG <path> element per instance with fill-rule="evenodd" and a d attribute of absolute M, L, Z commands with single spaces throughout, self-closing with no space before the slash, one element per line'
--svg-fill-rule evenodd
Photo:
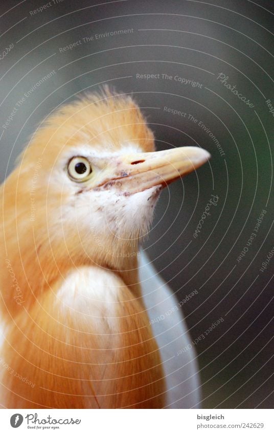
<path fill-rule="evenodd" d="M 209 158 L 198 146 L 156 151 L 138 103 L 108 87 L 60 105 L 34 131 L 0 190 L 4 408 L 179 401 L 164 322 L 151 319 L 157 301 L 175 299 L 141 243 L 163 188 Z M 179 312 L 172 321 L 180 347 L 186 325 Z"/>

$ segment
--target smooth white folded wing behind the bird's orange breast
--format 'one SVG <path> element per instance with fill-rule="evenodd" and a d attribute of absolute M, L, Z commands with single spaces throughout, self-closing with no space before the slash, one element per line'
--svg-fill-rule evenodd
<path fill-rule="evenodd" d="M 186 321 L 171 288 L 158 275 L 144 251 L 140 252 L 139 278 L 144 303 L 163 361 L 168 391 L 167 408 L 199 408 L 197 355 L 191 344 Z M 175 310 L 174 306 L 177 306 L 178 310 Z M 166 315 L 172 308 L 172 313 Z M 190 349 L 177 355 L 184 348 Z"/>

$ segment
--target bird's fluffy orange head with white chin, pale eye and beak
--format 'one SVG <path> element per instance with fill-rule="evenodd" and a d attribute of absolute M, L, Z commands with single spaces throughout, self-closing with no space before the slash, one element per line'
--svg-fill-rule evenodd
<path fill-rule="evenodd" d="M 132 98 L 105 89 L 62 106 L 34 133 L 4 186 L 5 209 L 16 209 L 6 220 L 19 246 L 28 240 L 51 263 L 119 267 L 124 253 L 136 255 L 161 190 L 208 158 L 198 147 L 156 152 Z"/>

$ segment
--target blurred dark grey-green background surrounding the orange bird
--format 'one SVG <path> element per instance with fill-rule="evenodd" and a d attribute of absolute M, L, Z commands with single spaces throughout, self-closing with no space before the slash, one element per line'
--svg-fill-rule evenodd
<path fill-rule="evenodd" d="M 178 301 L 198 291 L 184 304 L 193 339 L 223 318 L 195 346 L 200 405 L 271 408 L 274 258 L 260 268 L 274 246 L 274 117 L 267 105 L 274 107 L 274 4 L 98 3 L 2 0 L 1 180 L 51 110 L 105 82 L 144 107 L 158 149 L 209 150 L 210 164 L 162 193 L 146 250 Z M 212 195 L 217 203 L 200 227 Z"/>

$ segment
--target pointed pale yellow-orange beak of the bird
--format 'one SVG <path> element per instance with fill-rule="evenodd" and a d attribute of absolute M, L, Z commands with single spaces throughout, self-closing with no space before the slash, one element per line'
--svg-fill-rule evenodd
<path fill-rule="evenodd" d="M 101 186 L 115 186 L 124 194 L 137 193 L 154 186 L 165 187 L 197 169 L 209 158 L 209 152 L 193 146 L 119 155 L 106 168 L 108 179 Z"/>

